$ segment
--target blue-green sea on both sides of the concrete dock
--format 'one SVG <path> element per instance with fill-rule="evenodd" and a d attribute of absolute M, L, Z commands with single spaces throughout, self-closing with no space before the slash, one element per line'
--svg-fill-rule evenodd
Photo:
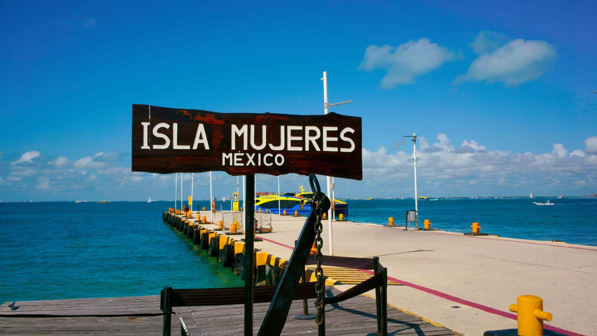
<path fill-rule="evenodd" d="M 419 225 L 503 237 L 562 240 L 597 246 L 597 198 L 419 201 Z M 404 223 L 414 200 L 348 200 L 347 219 Z M 216 258 L 162 222 L 173 201 L 0 203 L 0 303 L 63 298 L 158 295 L 164 286 L 243 286 Z M 179 203 L 180 204 L 180 203 Z M 195 201 L 209 206 L 208 201 Z M 216 209 L 229 209 L 218 203 Z M 179 205 L 180 207 L 180 205 Z M 275 230 L 275 227 L 274 227 Z"/>

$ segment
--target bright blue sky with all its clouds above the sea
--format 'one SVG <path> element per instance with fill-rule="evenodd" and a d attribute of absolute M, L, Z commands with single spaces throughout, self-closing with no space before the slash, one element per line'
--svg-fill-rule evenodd
<path fill-rule="evenodd" d="M 597 192 L 594 1 L 0 2 L 0 200 L 174 198 L 131 105 L 362 118 L 337 197 Z M 351 160 L 346 157 L 346 160 Z M 183 189 L 190 193 L 190 174 Z M 320 178 L 325 181 L 325 178 Z M 195 174 L 195 198 L 209 174 Z M 213 173 L 213 194 L 236 178 Z M 283 192 L 307 185 L 284 175 Z M 241 186 L 242 188 L 242 186 Z M 258 191 L 277 178 L 257 176 Z"/>

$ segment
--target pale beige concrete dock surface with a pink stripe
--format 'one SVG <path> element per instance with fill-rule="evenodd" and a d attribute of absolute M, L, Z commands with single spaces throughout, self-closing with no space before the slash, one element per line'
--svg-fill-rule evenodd
<path fill-rule="evenodd" d="M 273 232 L 257 234 L 264 241 L 255 247 L 290 258 L 304 220 L 272 215 Z M 328 255 L 330 230 L 323 224 Z M 597 334 L 596 246 L 403 228 L 334 221 L 334 255 L 379 256 L 389 280 L 400 284 L 389 286 L 389 304 L 464 335 L 516 328 L 508 308 L 525 294 L 543 298 L 543 310 L 553 314 L 546 329 Z"/>

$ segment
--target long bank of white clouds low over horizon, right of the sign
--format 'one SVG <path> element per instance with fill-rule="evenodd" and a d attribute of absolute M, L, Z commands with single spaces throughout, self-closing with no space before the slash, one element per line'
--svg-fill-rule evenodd
<path fill-rule="evenodd" d="M 429 182 L 426 185 L 445 188 L 445 193 L 461 193 L 469 188 L 467 185 L 489 189 L 549 183 L 555 189 L 597 186 L 592 182 L 597 177 L 597 155 L 580 150 L 569 155 L 561 143 L 553 143 L 550 152 L 533 154 L 488 150 L 474 140 L 464 140 L 455 149 L 444 133 L 439 133 L 437 139 L 432 145 L 426 140 L 417 141 L 421 144 L 417 150 L 417 174 L 421 181 Z M 364 181 L 374 180 L 382 188 L 396 185 L 400 179 L 411 179 L 413 161 L 410 151 L 390 154 L 381 146 L 376 151 L 363 149 L 363 168 Z M 442 182 L 441 186 L 436 182 Z M 509 195 L 515 194 L 516 191 L 509 191 Z"/>

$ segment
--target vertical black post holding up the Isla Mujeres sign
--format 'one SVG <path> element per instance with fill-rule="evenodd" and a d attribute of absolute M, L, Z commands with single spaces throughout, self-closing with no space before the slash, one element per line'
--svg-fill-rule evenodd
<path fill-rule="evenodd" d="M 255 175 L 245 184 L 245 336 L 253 335 L 253 263 L 255 234 Z"/>

